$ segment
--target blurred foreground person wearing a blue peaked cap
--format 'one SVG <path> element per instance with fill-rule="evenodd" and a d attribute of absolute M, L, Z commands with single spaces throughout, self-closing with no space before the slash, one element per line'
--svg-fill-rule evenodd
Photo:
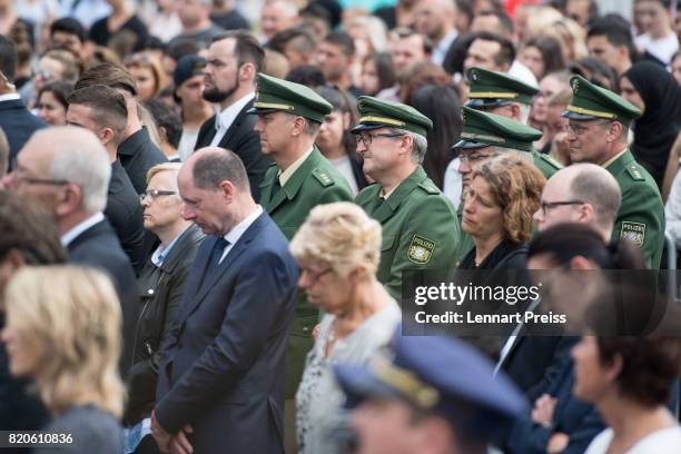
<path fill-rule="evenodd" d="M 334 366 L 346 405 L 356 406 L 359 453 L 484 454 L 526 407 L 516 387 L 493 378 L 492 363 L 458 339 L 397 335 L 394 347 L 392 363 Z"/>

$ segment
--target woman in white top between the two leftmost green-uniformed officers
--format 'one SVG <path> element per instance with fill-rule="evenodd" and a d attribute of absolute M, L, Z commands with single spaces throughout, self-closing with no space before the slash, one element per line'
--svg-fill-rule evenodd
<path fill-rule="evenodd" d="M 340 89 L 320 86 L 317 92 L 326 99 L 333 110 L 324 117 L 315 145 L 338 171 L 347 179 L 347 184 L 356 195 L 366 186 L 366 177 L 355 150 L 357 141 L 349 132 L 357 122 L 357 114 L 349 95 Z"/>

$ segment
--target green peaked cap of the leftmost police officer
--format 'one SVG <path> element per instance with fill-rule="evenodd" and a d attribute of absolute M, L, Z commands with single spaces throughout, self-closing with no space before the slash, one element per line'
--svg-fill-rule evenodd
<path fill-rule="evenodd" d="M 310 88 L 258 72 L 257 92 L 248 114 L 284 111 L 324 122 L 333 106 Z"/>

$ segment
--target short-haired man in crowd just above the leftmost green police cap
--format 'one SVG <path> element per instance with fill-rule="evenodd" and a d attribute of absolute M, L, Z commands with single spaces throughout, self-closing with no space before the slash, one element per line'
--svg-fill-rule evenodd
<path fill-rule="evenodd" d="M 354 97 L 362 91 L 351 83 L 349 69 L 355 58 L 355 43 L 349 34 L 343 31 L 330 32 L 315 53 L 315 61 L 322 68 L 326 81 L 348 91 Z"/>

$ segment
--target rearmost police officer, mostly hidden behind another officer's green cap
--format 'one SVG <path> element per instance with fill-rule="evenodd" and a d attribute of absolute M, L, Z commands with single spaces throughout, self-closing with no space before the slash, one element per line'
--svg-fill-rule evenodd
<path fill-rule="evenodd" d="M 532 98 L 539 92 L 536 88 L 505 72 L 476 67 L 466 71 L 466 79 L 471 87 L 466 107 L 527 124 Z M 551 156 L 539 152 L 534 146 L 531 147 L 530 152 L 534 165 L 546 179 L 563 167 Z"/>

